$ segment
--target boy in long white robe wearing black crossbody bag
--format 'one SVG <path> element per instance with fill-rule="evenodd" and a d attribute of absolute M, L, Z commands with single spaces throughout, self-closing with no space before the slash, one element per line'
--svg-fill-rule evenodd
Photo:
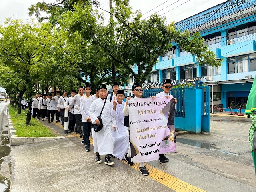
<path fill-rule="evenodd" d="M 94 144 L 93 151 L 96 154 L 96 163 L 102 163 L 100 155 L 105 155 L 105 164 L 110 166 L 115 164 L 110 160 L 109 155 L 113 153 L 114 148 L 112 128 L 114 131 L 116 131 L 116 100 L 114 100 L 112 103 L 106 99 L 108 92 L 105 84 L 101 84 L 97 88 L 97 91 L 99 92 L 100 98 L 92 102 L 92 105 L 89 108 L 89 115 L 92 123 L 99 125 L 100 121 L 97 117 L 100 116 L 100 112 L 102 111 L 101 119 L 103 128 L 98 132 L 95 132 L 94 129 L 92 129 L 92 138 Z"/>

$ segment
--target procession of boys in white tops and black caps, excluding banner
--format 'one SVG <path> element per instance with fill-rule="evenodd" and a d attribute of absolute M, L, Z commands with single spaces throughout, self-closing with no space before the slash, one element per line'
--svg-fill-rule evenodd
<path fill-rule="evenodd" d="M 80 86 L 78 92 L 72 90 L 69 98 L 66 96 L 66 91 L 63 92 L 63 96 L 60 96 L 59 92 L 57 92 L 57 96 L 52 92 L 48 98 L 46 95 L 43 95 L 43 98 L 36 96 L 32 105 L 33 118 L 35 112 L 38 114 L 40 111 L 42 120 L 44 120 L 47 110 L 48 122 L 54 120 L 54 113 L 56 113 L 56 122 L 58 122 L 57 112 L 60 112 L 62 125 L 64 125 L 64 110 L 66 109 L 69 111 L 68 132 L 76 132 L 80 134 L 81 138 L 83 137 L 81 143 L 85 145 L 86 151 L 90 151 L 89 136 L 92 130 L 96 163 L 102 163 L 100 155 L 104 155 L 104 163 L 109 166 L 114 165 L 110 157 L 124 159 L 132 166 L 134 163 L 131 161 L 129 128 L 124 125 L 124 118 L 129 115 L 128 100 L 131 97 L 126 98 L 126 102 L 123 101 L 125 93 L 124 90 L 119 89 L 117 82 L 114 82 L 112 89 L 113 93 L 108 95 L 107 86 L 101 84 L 97 88 L 96 94 L 90 95 L 92 91 L 90 84 L 86 84 L 85 87 Z M 162 89 L 164 92 L 157 94 L 156 97 L 170 98 L 172 96 L 169 94 L 172 89 L 171 80 L 164 80 Z M 143 90 L 140 84 L 133 84 L 132 93 L 134 98 L 142 96 Z M 174 102 L 177 100 L 174 99 Z M 103 124 L 103 128 L 100 131 L 94 130 L 92 124 Z M 159 162 L 165 164 L 168 162 L 168 158 L 164 154 L 160 154 Z M 139 170 L 143 175 L 149 174 L 144 163 L 140 163 Z"/>

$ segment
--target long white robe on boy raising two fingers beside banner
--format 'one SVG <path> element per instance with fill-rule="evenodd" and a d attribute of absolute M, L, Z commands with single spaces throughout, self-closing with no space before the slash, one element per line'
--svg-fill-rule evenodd
<path fill-rule="evenodd" d="M 120 160 L 123 160 L 126 153 L 128 153 L 129 149 L 129 131 L 128 127 L 124 126 L 124 114 L 123 108 L 125 106 L 125 102 L 119 104 L 117 102 L 116 106 L 116 131 L 112 132 L 113 134 L 113 143 L 114 150 L 113 155 Z"/>

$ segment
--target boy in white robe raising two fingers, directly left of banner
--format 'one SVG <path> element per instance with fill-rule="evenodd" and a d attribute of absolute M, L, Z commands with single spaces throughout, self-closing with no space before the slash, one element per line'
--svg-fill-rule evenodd
<path fill-rule="evenodd" d="M 134 163 L 127 157 L 129 152 L 129 130 L 128 127 L 124 126 L 124 114 L 123 109 L 125 106 L 125 102 L 123 101 L 125 98 L 124 90 L 119 89 L 116 93 L 116 131 L 112 132 L 113 134 L 113 144 L 114 151 L 113 155 L 123 160 L 123 158 L 127 161 L 129 165 L 133 165 Z"/>

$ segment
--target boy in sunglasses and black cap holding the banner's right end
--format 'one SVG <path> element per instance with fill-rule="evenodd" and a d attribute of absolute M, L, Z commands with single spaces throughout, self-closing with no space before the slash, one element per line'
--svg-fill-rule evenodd
<path fill-rule="evenodd" d="M 162 89 L 164 90 L 163 92 L 160 92 L 158 94 L 156 94 L 156 96 L 152 97 L 153 99 L 156 98 L 156 97 L 166 97 L 167 99 L 172 99 L 173 96 L 170 94 L 170 91 L 172 89 L 172 84 L 171 84 L 171 80 L 170 79 L 166 79 L 163 81 L 163 84 L 162 84 Z M 177 103 L 177 99 L 174 98 L 174 102 Z M 175 129 L 174 129 L 174 140 L 176 138 L 176 135 L 175 135 Z M 169 159 L 164 155 L 164 154 L 159 154 L 159 162 L 161 164 L 165 164 L 165 162 L 168 162 Z"/>

